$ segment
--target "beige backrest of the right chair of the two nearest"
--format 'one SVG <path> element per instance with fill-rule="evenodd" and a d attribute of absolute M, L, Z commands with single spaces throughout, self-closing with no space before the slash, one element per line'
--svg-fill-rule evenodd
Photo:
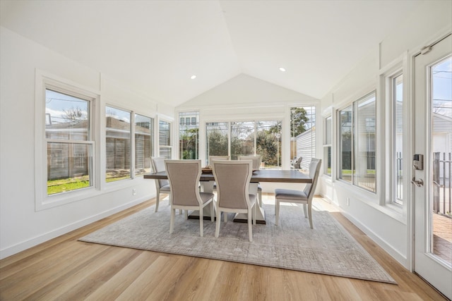
<path fill-rule="evenodd" d="M 217 183 L 219 207 L 230 209 L 251 207 L 249 183 L 253 173 L 253 161 L 213 160 L 212 171 Z"/>

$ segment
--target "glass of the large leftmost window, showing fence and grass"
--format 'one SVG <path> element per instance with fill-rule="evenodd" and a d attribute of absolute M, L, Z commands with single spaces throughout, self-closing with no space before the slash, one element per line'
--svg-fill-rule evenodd
<path fill-rule="evenodd" d="M 46 90 L 47 195 L 93 185 L 91 181 L 90 102 Z M 73 143 L 73 142 L 78 143 Z"/>

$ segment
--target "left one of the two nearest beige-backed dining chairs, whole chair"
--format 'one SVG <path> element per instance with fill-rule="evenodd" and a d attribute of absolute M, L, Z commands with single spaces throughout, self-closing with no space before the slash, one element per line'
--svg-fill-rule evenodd
<path fill-rule="evenodd" d="M 210 204 L 210 220 L 214 220 L 213 193 L 199 192 L 201 160 L 165 160 L 169 180 L 171 219 L 169 233 L 173 232 L 176 209 L 199 210 L 199 232 L 203 236 L 203 209 Z M 185 214 L 187 216 L 187 214 Z"/>

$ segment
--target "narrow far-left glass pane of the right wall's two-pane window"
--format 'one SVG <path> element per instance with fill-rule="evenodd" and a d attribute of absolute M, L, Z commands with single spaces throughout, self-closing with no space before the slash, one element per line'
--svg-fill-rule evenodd
<path fill-rule="evenodd" d="M 352 106 L 339 111 L 339 175 L 338 178 L 352 183 Z"/>

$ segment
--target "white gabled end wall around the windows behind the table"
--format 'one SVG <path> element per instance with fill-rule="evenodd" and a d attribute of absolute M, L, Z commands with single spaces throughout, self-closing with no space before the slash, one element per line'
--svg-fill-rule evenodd
<path fill-rule="evenodd" d="M 319 104 L 318 99 L 259 80 L 246 74 L 223 82 L 177 107 L 177 111 L 200 111 L 200 137 L 206 137 L 206 122 L 282 120 L 283 127 L 290 126 L 290 107 Z M 290 133 L 283 133 L 283 168 L 290 168 Z M 200 149 L 206 149 L 205 140 L 200 140 Z M 200 159 L 205 160 L 205 152 Z M 268 186 L 268 189 L 266 188 Z M 273 187 L 263 185 L 264 192 L 273 192 Z"/>

